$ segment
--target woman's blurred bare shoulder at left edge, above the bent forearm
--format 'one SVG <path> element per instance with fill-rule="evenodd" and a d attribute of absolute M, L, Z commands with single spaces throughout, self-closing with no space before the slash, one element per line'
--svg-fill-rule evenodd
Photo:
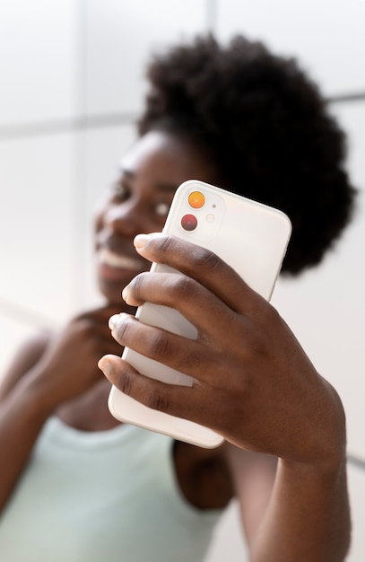
<path fill-rule="evenodd" d="M 53 333 L 50 330 L 39 330 L 22 343 L 5 373 L 1 376 L 0 399 L 4 398 L 13 385 L 22 378 L 23 374 L 30 371 L 39 362 L 52 336 Z"/>

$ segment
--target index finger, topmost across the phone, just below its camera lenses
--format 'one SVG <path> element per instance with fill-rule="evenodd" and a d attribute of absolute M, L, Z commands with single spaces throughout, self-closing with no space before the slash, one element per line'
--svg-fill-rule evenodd
<path fill-rule="evenodd" d="M 139 234 L 135 249 L 144 258 L 169 265 L 192 277 L 216 294 L 233 311 L 263 300 L 228 264 L 210 250 L 162 233 Z"/>

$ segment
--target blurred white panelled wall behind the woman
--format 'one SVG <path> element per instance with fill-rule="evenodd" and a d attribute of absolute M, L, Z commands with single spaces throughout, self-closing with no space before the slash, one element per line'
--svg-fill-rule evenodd
<path fill-rule="evenodd" d="M 350 562 L 365 559 L 364 22 L 365 0 L 0 2 L 1 371 L 35 329 L 99 302 L 92 212 L 135 139 L 153 50 L 197 32 L 241 32 L 297 57 L 322 88 L 348 135 L 359 209 L 325 264 L 279 280 L 273 303 L 343 399 Z M 245 559 L 234 502 L 206 562 L 228 554 Z"/>

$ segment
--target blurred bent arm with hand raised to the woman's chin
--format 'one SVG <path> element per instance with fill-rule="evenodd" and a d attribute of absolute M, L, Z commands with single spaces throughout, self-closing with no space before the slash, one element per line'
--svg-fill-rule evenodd
<path fill-rule="evenodd" d="M 78 316 L 57 336 L 23 346 L 0 387 L 0 510 L 22 474 L 39 432 L 55 409 L 100 381 L 97 362 L 120 347 L 103 308 Z"/>

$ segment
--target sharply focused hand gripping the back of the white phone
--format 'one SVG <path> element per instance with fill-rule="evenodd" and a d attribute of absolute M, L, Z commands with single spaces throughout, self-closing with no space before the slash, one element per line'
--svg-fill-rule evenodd
<path fill-rule="evenodd" d="M 117 356 L 100 368 L 120 391 L 150 408 L 211 427 L 230 443 L 288 461 L 338 461 L 345 428 L 341 401 L 310 363 L 274 307 L 209 250 L 163 234 L 140 235 L 136 250 L 181 274 L 143 273 L 126 303 L 177 309 L 196 340 L 113 317 L 119 344 L 191 375 L 192 387 L 137 373 Z"/>

